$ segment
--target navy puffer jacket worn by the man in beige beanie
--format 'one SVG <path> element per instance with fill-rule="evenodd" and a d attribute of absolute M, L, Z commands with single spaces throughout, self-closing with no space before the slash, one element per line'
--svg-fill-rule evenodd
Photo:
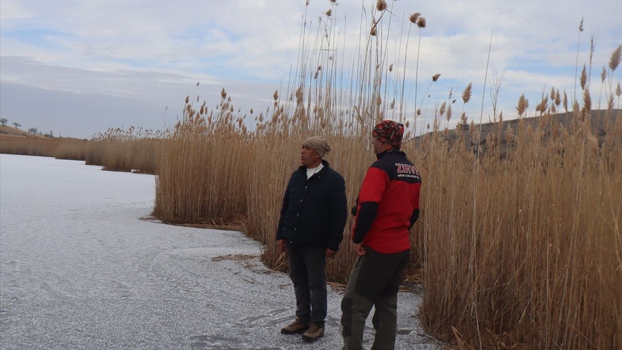
<path fill-rule="evenodd" d="M 339 250 L 348 215 L 345 181 L 322 161 L 307 179 L 307 167 L 294 171 L 285 189 L 276 239 Z"/>

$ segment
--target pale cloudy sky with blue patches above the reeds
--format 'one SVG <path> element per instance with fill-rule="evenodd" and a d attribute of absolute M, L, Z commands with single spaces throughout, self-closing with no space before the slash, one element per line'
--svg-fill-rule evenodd
<path fill-rule="evenodd" d="M 264 110 L 296 65 L 305 11 L 309 28 L 315 29 L 318 17 L 332 8 L 333 31 L 341 40 L 337 56 L 351 60 L 361 18 L 367 16 L 362 20 L 366 35 L 375 2 L 2 0 L 0 114 L 22 128 L 90 138 L 109 127 L 165 128 L 180 115 L 185 96 L 198 94 L 215 106 L 221 88 L 241 114 Z M 403 61 L 398 56 L 407 57 L 407 100 L 414 98 L 419 39 L 417 29 L 407 38 L 408 17 L 420 12 L 427 27 L 421 31 L 418 89 L 425 90 L 433 74 L 442 74 L 430 89 L 427 103 L 433 105 L 450 89 L 462 92 L 472 82 L 474 97 L 466 111 L 476 121 L 483 95 L 483 119 L 491 113 L 490 96 L 483 91 L 491 31 L 488 78 L 504 73 L 499 106 L 505 118 L 516 115 L 521 93 L 529 98 L 532 115 L 543 89 L 554 86 L 572 95 L 582 17 L 578 62 L 580 67 L 589 63 L 593 35 L 595 104 L 603 65 L 622 44 L 620 0 L 387 2 L 388 46 L 400 51 L 392 54 L 396 64 Z M 387 26 L 388 19 L 383 21 Z M 618 68 L 613 85 L 621 78 Z M 408 104 L 411 110 L 414 105 Z"/>

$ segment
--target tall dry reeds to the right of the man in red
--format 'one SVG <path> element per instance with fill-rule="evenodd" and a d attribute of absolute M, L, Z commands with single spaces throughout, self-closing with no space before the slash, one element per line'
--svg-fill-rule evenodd
<path fill-rule="evenodd" d="M 620 348 L 622 116 L 606 130 L 599 148 L 582 121 L 550 136 L 519 123 L 511 151 L 489 141 L 477 161 L 465 140 L 422 144 L 421 316 L 433 334 Z"/>

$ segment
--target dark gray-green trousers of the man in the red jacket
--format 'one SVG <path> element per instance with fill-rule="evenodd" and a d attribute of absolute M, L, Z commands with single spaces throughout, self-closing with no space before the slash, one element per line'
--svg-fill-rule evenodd
<path fill-rule="evenodd" d="M 343 349 L 363 349 L 365 320 L 375 306 L 372 324 L 376 336 L 371 350 L 393 350 L 397 332 L 397 290 L 411 252 L 383 254 L 369 247 L 365 251 L 356 259 L 341 300 Z"/>

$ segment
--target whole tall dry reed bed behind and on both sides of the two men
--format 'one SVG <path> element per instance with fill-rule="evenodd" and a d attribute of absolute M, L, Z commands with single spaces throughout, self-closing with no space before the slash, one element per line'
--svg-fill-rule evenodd
<path fill-rule="evenodd" d="M 373 154 L 367 135 L 275 110 L 253 133 L 228 113 L 182 121 L 165 147 L 155 212 L 171 222 L 243 221 L 266 245 L 262 260 L 286 270 L 274 232 L 302 140 L 327 136 L 350 205 Z M 619 344 L 622 116 L 612 119 L 600 146 L 580 113 L 568 129 L 548 113 L 512 131 L 498 122 L 479 156 L 470 139 L 450 148 L 443 132 L 405 143 L 424 178 L 413 257 L 425 268 L 420 312 L 431 333 L 467 348 L 480 339 L 486 348 Z M 345 281 L 355 259 L 351 219 L 331 280 Z"/>

